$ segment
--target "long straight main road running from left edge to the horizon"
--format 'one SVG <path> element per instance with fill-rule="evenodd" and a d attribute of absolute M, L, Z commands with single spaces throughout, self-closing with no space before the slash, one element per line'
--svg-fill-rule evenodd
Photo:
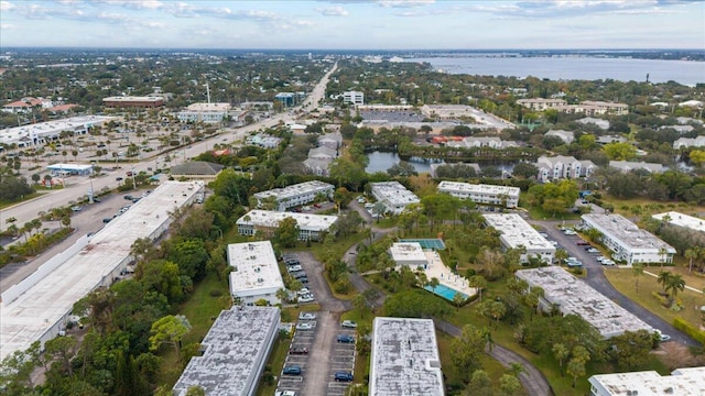
<path fill-rule="evenodd" d="M 321 78 L 318 84 L 316 84 L 304 102 L 300 107 L 291 109 L 291 111 L 303 110 L 304 112 L 306 112 L 310 109 L 313 109 L 318 102 L 321 102 L 321 100 L 325 96 L 326 86 L 328 84 L 330 75 L 336 69 L 337 63 L 334 64 L 333 67 Z M 245 139 L 245 136 L 250 132 L 254 132 L 260 129 L 272 128 L 292 117 L 293 116 L 291 116 L 290 112 L 284 112 L 239 129 L 226 129 L 220 134 L 172 151 L 170 155 L 173 157 L 173 160 L 170 165 L 173 166 L 184 163 L 188 161 L 188 158 L 197 156 L 198 154 L 213 148 L 215 143 L 223 143 L 224 141 L 234 143 L 240 141 Z M 144 158 L 140 162 L 120 164 L 122 168 L 116 170 L 107 168 L 106 166 L 104 168 L 105 175 L 95 177 L 93 179 L 87 176 L 67 177 L 67 186 L 65 188 L 51 190 L 47 194 L 42 195 L 41 197 L 30 199 L 0 210 L 0 231 L 8 227 L 8 224 L 6 224 L 4 222 L 6 219 L 14 217 L 17 219 L 17 224 L 19 224 L 19 227 L 22 227 L 22 224 L 24 224 L 25 222 L 37 218 L 37 213 L 41 211 L 46 212 L 52 208 L 67 206 L 70 205 L 72 201 L 82 199 L 88 194 L 88 191 L 90 191 L 91 186 L 94 191 L 100 191 L 104 188 L 115 189 L 120 185 L 120 182 L 116 180 L 116 177 L 126 177 L 126 173 L 128 170 L 132 170 L 135 173 L 148 172 L 148 168 L 155 167 L 158 157 L 160 157 L 161 155 L 163 155 L 163 153 L 158 153 L 154 156 Z"/>

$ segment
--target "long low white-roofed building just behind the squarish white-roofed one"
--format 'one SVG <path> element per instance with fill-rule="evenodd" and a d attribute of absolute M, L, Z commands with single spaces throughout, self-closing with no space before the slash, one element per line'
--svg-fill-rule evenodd
<path fill-rule="evenodd" d="M 338 221 L 337 216 L 250 210 L 236 223 L 240 235 L 254 235 L 259 230 L 271 234 L 279 227 L 279 222 L 286 218 L 296 220 L 300 241 L 318 241 L 321 234 L 328 232 L 330 226 Z"/>

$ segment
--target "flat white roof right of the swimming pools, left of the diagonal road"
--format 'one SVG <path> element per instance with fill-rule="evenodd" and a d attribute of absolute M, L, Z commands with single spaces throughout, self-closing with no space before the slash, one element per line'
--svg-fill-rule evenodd
<path fill-rule="evenodd" d="M 528 252 L 531 250 L 550 250 L 555 252 L 555 246 L 545 238 L 541 237 L 539 231 L 524 221 L 521 216 L 517 213 L 482 216 L 488 226 L 501 233 L 499 238 L 509 248 L 517 249 L 524 246 Z"/>

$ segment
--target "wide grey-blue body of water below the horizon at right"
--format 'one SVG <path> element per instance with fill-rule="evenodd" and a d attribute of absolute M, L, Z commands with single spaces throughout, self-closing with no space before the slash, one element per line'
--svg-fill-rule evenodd
<path fill-rule="evenodd" d="M 463 56 L 405 58 L 404 62 L 426 62 L 434 69 L 449 74 L 480 76 L 529 76 L 551 80 L 676 81 L 686 86 L 705 82 L 705 62 L 634 59 L 626 57 L 554 56 L 499 57 Z"/>

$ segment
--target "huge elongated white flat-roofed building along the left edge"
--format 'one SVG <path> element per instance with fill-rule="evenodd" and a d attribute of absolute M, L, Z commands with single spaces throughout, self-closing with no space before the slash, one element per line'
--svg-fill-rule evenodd
<path fill-rule="evenodd" d="M 34 341 L 44 343 L 56 337 L 76 301 L 97 287 L 109 286 L 127 271 L 133 261 L 132 243 L 166 232 L 170 213 L 193 202 L 202 189 L 202 184 L 193 182 L 164 182 L 104 229 L 82 237 L 2 293 L 0 361 Z"/>

